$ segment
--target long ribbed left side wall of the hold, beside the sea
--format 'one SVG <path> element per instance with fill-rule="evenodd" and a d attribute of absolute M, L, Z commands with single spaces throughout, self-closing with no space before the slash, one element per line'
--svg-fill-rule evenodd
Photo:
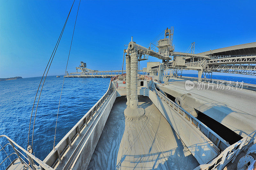
<path fill-rule="evenodd" d="M 57 169 L 86 169 L 116 100 L 110 82 L 107 92 L 55 146 L 44 162 Z"/>

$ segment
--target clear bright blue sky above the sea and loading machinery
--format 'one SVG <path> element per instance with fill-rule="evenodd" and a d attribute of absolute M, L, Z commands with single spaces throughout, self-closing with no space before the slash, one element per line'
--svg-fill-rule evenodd
<path fill-rule="evenodd" d="M 49 75 L 65 73 L 78 3 Z M 0 0 L 1 78 L 43 74 L 71 4 Z M 171 26 L 175 51 L 194 41 L 203 51 L 255 42 L 256 1 L 81 1 L 67 71 L 75 72 L 80 61 L 95 70 L 119 70 L 131 36 L 146 46 Z"/>

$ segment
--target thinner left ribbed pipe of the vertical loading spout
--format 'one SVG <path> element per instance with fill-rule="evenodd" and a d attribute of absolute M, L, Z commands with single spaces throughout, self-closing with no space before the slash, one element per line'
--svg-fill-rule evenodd
<path fill-rule="evenodd" d="M 130 107 L 130 99 L 131 99 L 131 57 L 130 57 L 130 49 L 127 48 L 125 56 L 125 63 L 126 63 L 126 98 L 127 98 L 127 107 Z"/>

